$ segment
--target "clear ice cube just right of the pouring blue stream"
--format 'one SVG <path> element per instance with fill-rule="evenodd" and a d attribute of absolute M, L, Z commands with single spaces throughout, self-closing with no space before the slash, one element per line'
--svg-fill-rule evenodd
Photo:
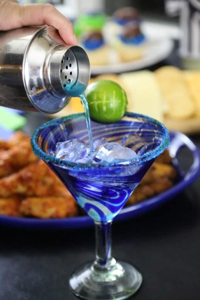
<path fill-rule="evenodd" d="M 96 158 L 112 162 L 115 159 L 118 160 L 127 160 L 132 159 L 137 156 L 136 152 L 130 148 L 123 147 L 119 145 L 117 142 L 106 143 L 102 147 L 100 147 L 97 152 Z"/>

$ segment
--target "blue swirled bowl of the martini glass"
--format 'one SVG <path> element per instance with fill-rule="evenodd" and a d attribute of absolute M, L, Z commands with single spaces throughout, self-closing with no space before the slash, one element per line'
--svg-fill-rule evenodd
<path fill-rule="evenodd" d="M 78 138 L 89 144 L 84 114 L 47 122 L 35 131 L 31 145 L 34 153 L 48 163 L 87 214 L 105 222 L 118 214 L 154 159 L 169 145 L 169 133 L 156 120 L 132 113 L 111 124 L 91 122 L 91 129 L 94 141 L 106 137 L 120 143 L 126 134 L 134 134 L 147 146 L 137 148 L 138 157 L 113 163 L 85 165 L 55 158 L 51 153 L 58 142 Z M 132 144 L 127 146 L 133 148 Z"/>

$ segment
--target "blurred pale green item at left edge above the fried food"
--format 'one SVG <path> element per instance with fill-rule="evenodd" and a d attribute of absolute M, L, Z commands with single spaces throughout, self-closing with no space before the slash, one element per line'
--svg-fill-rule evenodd
<path fill-rule="evenodd" d="M 10 130 L 18 130 L 26 124 L 25 117 L 0 107 L 0 125 Z"/>

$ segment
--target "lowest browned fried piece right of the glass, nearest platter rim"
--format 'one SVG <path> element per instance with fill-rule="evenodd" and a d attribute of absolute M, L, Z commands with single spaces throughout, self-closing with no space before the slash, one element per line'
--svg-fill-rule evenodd
<path fill-rule="evenodd" d="M 145 185 L 139 184 L 138 187 L 136 187 L 132 195 L 127 200 L 126 205 L 132 205 L 141 202 L 145 199 L 153 197 L 156 194 L 168 190 L 172 186 L 173 186 L 172 180 L 167 177 L 157 179 L 156 181 L 150 184 L 145 184 Z"/>

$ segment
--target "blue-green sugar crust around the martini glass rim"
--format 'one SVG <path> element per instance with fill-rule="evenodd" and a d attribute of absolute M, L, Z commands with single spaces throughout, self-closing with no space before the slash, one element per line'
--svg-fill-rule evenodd
<path fill-rule="evenodd" d="M 111 162 L 111 163 L 101 162 L 101 163 L 98 163 L 98 164 L 72 163 L 72 162 L 67 161 L 67 160 L 62 160 L 60 158 L 56 158 L 53 155 L 46 154 L 37 145 L 36 137 L 37 137 L 37 135 L 38 135 L 38 133 L 41 129 L 44 129 L 44 128 L 52 126 L 52 125 L 60 125 L 60 120 L 62 120 L 62 121 L 73 120 L 73 119 L 75 119 L 77 117 L 81 117 L 81 116 L 85 116 L 85 113 L 78 113 L 78 114 L 73 114 L 73 115 L 70 115 L 70 116 L 54 119 L 52 121 L 46 122 L 45 124 L 43 124 L 39 128 L 37 128 L 34 131 L 34 134 L 31 137 L 31 147 L 33 149 L 34 154 L 39 156 L 41 159 L 43 159 L 46 162 L 51 162 L 51 163 L 56 164 L 56 165 L 61 166 L 61 167 L 68 167 L 68 168 L 73 169 L 75 171 L 75 170 L 80 170 L 80 169 L 81 170 L 96 169 L 96 168 L 99 168 L 99 167 L 127 167 L 127 166 L 134 165 L 134 164 L 135 165 L 140 165 L 140 164 L 144 163 L 145 161 L 150 161 L 151 159 L 156 158 L 158 155 L 160 155 L 162 152 L 164 152 L 164 150 L 169 146 L 169 131 L 167 130 L 165 125 L 163 125 L 159 121 L 157 121 L 153 118 L 150 118 L 148 116 L 144 116 L 142 114 L 136 114 L 136 113 L 128 113 L 128 112 L 125 113 L 124 116 L 133 117 L 133 118 L 144 118 L 148 122 L 151 122 L 155 125 L 161 126 L 161 128 L 163 130 L 163 133 L 160 135 L 160 137 L 162 138 L 162 141 L 161 141 L 160 145 L 157 146 L 154 150 L 152 150 L 150 152 L 146 152 L 141 156 L 137 156 L 136 158 L 124 160 L 123 163 L 121 161 L 117 161 L 117 160 L 115 162 Z M 124 162 L 126 162 L 128 164 L 125 165 Z"/>

